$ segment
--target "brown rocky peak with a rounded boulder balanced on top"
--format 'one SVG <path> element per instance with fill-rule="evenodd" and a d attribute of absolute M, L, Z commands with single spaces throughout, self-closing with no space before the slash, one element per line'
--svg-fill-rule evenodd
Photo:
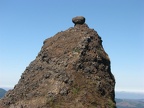
<path fill-rule="evenodd" d="M 110 58 L 84 17 L 43 42 L 0 108 L 116 108 Z"/>

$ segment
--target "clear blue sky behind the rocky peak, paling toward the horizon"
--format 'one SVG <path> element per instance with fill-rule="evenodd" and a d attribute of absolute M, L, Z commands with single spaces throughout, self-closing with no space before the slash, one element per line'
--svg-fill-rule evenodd
<path fill-rule="evenodd" d="M 144 91 L 143 0 L 0 0 L 0 87 L 13 87 L 43 41 L 82 15 L 102 37 L 117 91 Z"/>

